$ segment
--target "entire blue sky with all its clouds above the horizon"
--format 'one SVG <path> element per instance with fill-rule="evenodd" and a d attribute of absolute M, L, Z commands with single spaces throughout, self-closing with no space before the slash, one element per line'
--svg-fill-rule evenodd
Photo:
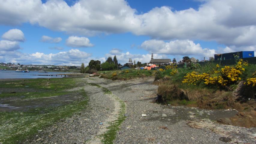
<path fill-rule="evenodd" d="M 0 62 L 142 63 L 256 50 L 255 0 L 0 0 Z"/>

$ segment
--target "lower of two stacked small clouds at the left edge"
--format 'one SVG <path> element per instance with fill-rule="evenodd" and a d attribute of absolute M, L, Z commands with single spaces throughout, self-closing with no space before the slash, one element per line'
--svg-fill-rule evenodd
<path fill-rule="evenodd" d="M 17 49 L 20 49 L 19 42 L 17 41 L 8 41 L 8 40 L 0 41 L 0 51 L 13 51 Z"/>

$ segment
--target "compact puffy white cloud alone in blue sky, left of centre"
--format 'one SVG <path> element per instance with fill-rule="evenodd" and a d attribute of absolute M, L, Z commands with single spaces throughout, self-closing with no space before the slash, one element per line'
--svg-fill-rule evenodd
<path fill-rule="evenodd" d="M 86 37 L 77 37 L 70 36 L 66 40 L 66 45 L 71 47 L 90 47 L 93 44 L 90 43 L 90 40 Z"/>

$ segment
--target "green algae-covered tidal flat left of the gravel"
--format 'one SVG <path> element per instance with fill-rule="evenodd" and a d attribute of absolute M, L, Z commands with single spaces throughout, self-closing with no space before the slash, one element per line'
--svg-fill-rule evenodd
<path fill-rule="evenodd" d="M 77 86 L 73 78 L 2 81 L 0 98 L 7 107 L 0 107 L 0 143 L 22 143 L 85 109 L 88 97 Z"/>

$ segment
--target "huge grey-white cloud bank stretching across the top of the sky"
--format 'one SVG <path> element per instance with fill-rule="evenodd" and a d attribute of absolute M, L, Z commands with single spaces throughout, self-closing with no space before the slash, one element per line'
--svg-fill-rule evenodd
<path fill-rule="evenodd" d="M 198 10 L 173 11 L 155 7 L 138 14 L 125 0 L 80 0 L 69 6 L 63 0 L 2 1 L 0 23 L 30 22 L 71 34 L 132 32 L 162 40 L 217 41 L 227 46 L 256 45 L 255 0 L 209 0 Z"/>

